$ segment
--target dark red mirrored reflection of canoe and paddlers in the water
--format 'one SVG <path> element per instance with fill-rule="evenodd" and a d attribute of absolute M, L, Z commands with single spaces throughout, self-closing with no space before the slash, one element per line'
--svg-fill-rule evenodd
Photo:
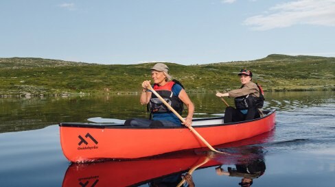
<path fill-rule="evenodd" d="M 268 142 L 272 135 L 273 131 L 216 147 L 229 155 L 213 153 L 207 149 L 192 149 L 146 159 L 72 163 L 65 173 L 62 187 L 123 187 L 142 184 L 192 187 L 192 173 L 209 167 L 213 167 L 213 175 L 242 177 L 240 185 L 250 186 L 244 180 L 252 181 L 263 175 L 265 153 L 261 145 Z M 235 165 L 235 168 L 228 167 L 231 165 Z"/>

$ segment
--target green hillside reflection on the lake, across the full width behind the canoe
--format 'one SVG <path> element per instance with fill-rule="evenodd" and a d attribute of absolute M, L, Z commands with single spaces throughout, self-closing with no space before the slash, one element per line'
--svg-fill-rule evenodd
<path fill-rule="evenodd" d="M 189 97 L 196 107 L 194 117 L 207 117 L 224 112 L 225 105 L 214 93 L 196 93 Z M 265 109 L 278 112 L 330 103 L 334 91 L 266 92 Z M 233 105 L 233 99 L 227 99 Z M 139 95 L 98 95 L 78 97 L 0 98 L 0 133 L 41 129 L 60 122 L 89 122 L 89 119 L 148 118 Z"/>

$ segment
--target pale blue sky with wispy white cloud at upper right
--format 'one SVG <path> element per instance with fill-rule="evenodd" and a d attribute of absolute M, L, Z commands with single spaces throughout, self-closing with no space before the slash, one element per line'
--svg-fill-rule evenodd
<path fill-rule="evenodd" d="M 335 57 L 335 0 L 1 0 L 0 58 L 209 64 Z"/>

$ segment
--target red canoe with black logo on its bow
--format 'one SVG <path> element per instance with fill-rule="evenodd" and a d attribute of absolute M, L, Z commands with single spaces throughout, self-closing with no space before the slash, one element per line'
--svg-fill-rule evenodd
<path fill-rule="evenodd" d="M 195 119 L 192 127 L 209 142 L 221 145 L 251 138 L 275 127 L 275 110 L 251 121 L 223 123 L 224 117 Z M 125 127 L 122 124 L 60 123 L 60 144 L 71 162 L 105 158 L 143 158 L 207 147 L 187 127 Z"/>

